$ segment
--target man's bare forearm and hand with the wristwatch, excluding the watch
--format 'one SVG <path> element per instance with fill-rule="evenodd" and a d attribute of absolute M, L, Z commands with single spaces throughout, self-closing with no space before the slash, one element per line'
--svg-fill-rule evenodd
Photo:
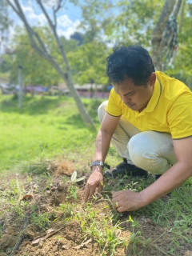
<path fill-rule="evenodd" d="M 98 131 L 98 136 L 96 138 L 94 161 L 105 162 L 106 154 L 110 147 L 111 137 L 114 134 L 114 130 L 118 126 L 118 121 L 120 118 L 121 116 L 113 117 L 110 114 L 105 114 L 105 117 L 102 120 L 102 126 Z M 82 202 L 86 202 L 90 196 L 94 195 L 96 189 L 98 189 L 98 192 L 101 192 L 102 183 L 102 166 L 93 166 L 93 173 L 86 182 Z"/>

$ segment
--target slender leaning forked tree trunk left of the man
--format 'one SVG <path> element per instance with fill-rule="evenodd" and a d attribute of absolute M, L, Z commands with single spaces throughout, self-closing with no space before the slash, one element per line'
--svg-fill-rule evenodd
<path fill-rule="evenodd" d="M 85 122 L 86 126 L 90 130 L 96 131 L 96 127 L 94 126 L 94 122 L 92 121 L 92 119 L 90 118 L 90 115 L 86 111 L 85 106 L 82 104 L 82 100 L 81 100 L 80 96 L 78 95 L 77 90 L 75 90 L 75 88 L 74 88 L 74 83 L 73 83 L 72 75 L 71 75 L 71 71 L 70 71 L 70 65 L 69 65 L 68 59 L 66 58 L 66 53 L 65 53 L 65 50 L 62 46 L 62 43 L 60 42 L 60 40 L 58 38 L 58 34 L 57 34 L 57 30 L 56 30 L 56 26 L 57 26 L 56 13 L 59 10 L 59 8 L 62 6 L 62 0 L 60 0 L 58 2 L 57 8 L 53 9 L 53 11 L 54 11 L 54 22 L 52 22 L 52 20 L 50 19 L 49 14 L 47 14 L 46 9 L 42 5 L 42 1 L 41 0 L 36 0 L 36 1 L 38 2 L 38 5 L 42 9 L 42 12 L 45 14 L 47 22 L 50 25 L 50 29 L 52 30 L 52 32 L 54 34 L 54 38 L 55 38 L 55 40 L 58 44 L 58 49 L 60 50 L 63 62 L 65 63 L 65 66 L 66 66 L 66 73 L 62 70 L 61 66 L 59 66 L 58 62 L 56 62 L 56 60 L 50 55 L 49 51 L 46 49 L 45 44 L 42 42 L 42 38 L 40 38 L 38 33 L 35 32 L 33 30 L 33 28 L 27 22 L 26 16 L 25 16 L 25 14 L 23 14 L 22 8 L 21 8 L 20 3 L 18 2 L 18 0 L 13 0 L 14 4 L 10 0 L 7 0 L 9 5 L 12 7 L 14 12 L 16 14 L 18 14 L 18 17 L 21 18 L 24 26 L 26 27 L 27 34 L 29 35 L 29 38 L 30 38 L 31 46 L 34 48 L 34 50 L 38 54 L 40 54 L 43 58 L 46 58 L 46 60 L 48 60 L 52 64 L 52 66 L 54 66 L 54 69 L 58 71 L 58 74 L 60 74 L 62 79 L 66 82 L 66 86 L 70 90 L 70 94 L 72 95 L 76 105 L 78 106 L 78 111 L 79 111 L 79 113 L 82 117 L 83 122 Z"/>

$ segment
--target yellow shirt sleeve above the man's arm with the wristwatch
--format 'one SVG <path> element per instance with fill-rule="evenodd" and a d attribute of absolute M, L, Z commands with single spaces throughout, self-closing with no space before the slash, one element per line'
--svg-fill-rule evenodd
<path fill-rule="evenodd" d="M 114 88 L 110 90 L 110 98 L 106 107 L 106 112 L 114 117 L 122 115 L 122 101 L 119 95 L 115 93 Z"/>

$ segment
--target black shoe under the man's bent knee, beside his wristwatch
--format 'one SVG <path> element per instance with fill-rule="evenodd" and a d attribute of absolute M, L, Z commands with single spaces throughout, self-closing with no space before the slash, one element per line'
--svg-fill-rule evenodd
<path fill-rule="evenodd" d="M 126 158 L 123 158 L 123 162 L 121 162 L 117 167 L 115 167 L 114 170 L 112 170 L 112 172 L 106 170 L 103 175 L 105 178 L 116 178 L 118 177 L 118 175 L 129 175 L 132 177 L 139 176 L 147 178 L 148 173 L 146 170 L 142 170 L 137 166 L 130 165 L 130 163 L 126 161 Z"/>

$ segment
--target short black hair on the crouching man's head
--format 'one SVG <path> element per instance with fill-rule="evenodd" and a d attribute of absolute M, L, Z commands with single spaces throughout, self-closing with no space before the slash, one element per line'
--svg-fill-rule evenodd
<path fill-rule="evenodd" d="M 106 74 L 110 82 L 118 83 L 130 78 L 135 86 L 146 86 L 154 72 L 150 54 L 142 46 L 120 46 L 106 60 Z"/>

